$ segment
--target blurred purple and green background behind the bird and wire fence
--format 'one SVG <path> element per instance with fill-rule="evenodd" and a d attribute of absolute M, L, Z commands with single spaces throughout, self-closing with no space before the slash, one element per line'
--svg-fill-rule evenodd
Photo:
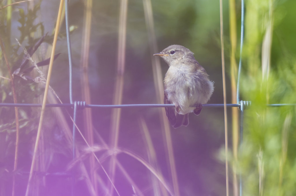
<path fill-rule="evenodd" d="M 11 3 L 4 0 L 0 8 Z M 245 110 L 241 148 L 239 110 L 228 109 L 229 195 L 238 195 L 238 173 L 243 195 L 296 194 L 295 106 L 266 107 L 295 104 L 295 8 L 295 0 L 245 4 L 241 100 L 252 101 L 252 106 Z M 25 58 L 16 38 L 28 49 L 48 33 L 32 58 L 40 62 L 50 57 L 58 9 L 57 0 L 36 0 L 0 10 L 0 36 L 12 72 L 20 67 L 17 60 Z M 160 90 L 168 65 L 152 55 L 179 44 L 194 53 L 215 82 L 209 103 L 223 103 L 219 15 L 218 1 L 70 1 L 73 100 L 96 105 L 162 104 Z M 240 21 L 241 1 L 223 1 L 227 103 L 236 103 Z M 54 61 L 50 85 L 63 103 L 69 103 L 63 17 L 55 53 L 61 54 Z M 0 75 L 9 78 L 3 48 L 0 54 Z M 47 75 L 48 66 L 40 69 Z M 28 75 L 36 78 L 38 72 Z M 13 103 L 5 78 L 0 78 L 1 102 Z M 19 76 L 14 83 L 18 103 L 42 103 L 43 83 Z M 56 97 L 49 95 L 47 103 L 55 102 Z M 78 110 L 77 126 L 92 148 L 77 133 L 73 161 L 69 117 L 73 110 L 47 108 L 31 195 L 71 195 L 73 183 L 74 195 L 118 195 L 102 167 L 120 195 L 226 195 L 223 108 L 190 114 L 189 126 L 178 129 L 168 127 L 163 111 Z M 40 108 L 20 107 L 18 114 L 16 142 L 15 110 L 0 108 L 0 195 L 24 195 L 28 183 Z"/>

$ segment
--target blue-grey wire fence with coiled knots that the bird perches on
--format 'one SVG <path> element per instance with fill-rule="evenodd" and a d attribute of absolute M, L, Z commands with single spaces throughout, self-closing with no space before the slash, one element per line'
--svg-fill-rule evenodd
<path fill-rule="evenodd" d="M 241 37 L 240 37 L 240 58 L 239 58 L 239 70 L 238 70 L 238 81 L 237 81 L 237 103 L 235 104 L 226 104 L 226 107 L 237 107 L 240 110 L 240 138 L 239 143 L 243 141 L 243 121 L 244 121 L 244 110 L 246 107 L 251 105 L 250 101 L 243 101 L 240 99 L 240 76 L 242 72 L 242 48 L 244 40 L 244 0 L 242 0 L 242 12 L 241 12 Z M 72 66 L 72 52 L 70 44 L 70 33 L 69 33 L 69 22 L 68 22 L 68 0 L 65 0 L 65 22 L 66 22 L 66 34 L 67 34 L 67 48 L 68 48 L 68 60 L 69 60 L 69 88 L 70 88 L 70 103 L 61 103 L 61 104 L 46 104 L 46 107 L 67 107 L 73 108 L 73 158 L 75 158 L 75 131 L 76 131 L 76 114 L 78 109 L 83 108 L 131 108 L 131 107 L 142 107 L 142 108 L 159 108 L 159 107 L 175 107 L 173 104 L 127 104 L 127 105 L 91 105 L 86 104 L 84 101 L 73 101 L 73 66 Z M 268 104 L 268 107 L 289 107 L 296 106 L 296 104 Z M 30 104 L 30 103 L 0 103 L 0 107 L 42 107 L 41 104 Z M 204 104 L 203 107 L 209 108 L 223 108 L 224 104 Z M 65 176 L 69 177 L 72 174 L 67 172 L 38 172 L 34 171 L 35 175 L 40 176 Z M 26 172 L 23 172 L 26 174 Z M 239 195 L 242 196 L 242 178 L 239 180 Z"/>

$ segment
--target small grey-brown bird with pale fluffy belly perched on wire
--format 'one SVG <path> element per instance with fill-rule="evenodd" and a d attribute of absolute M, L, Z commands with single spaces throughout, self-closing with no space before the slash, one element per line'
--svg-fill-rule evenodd
<path fill-rule="evenodd" d="M 214 91 L 214 82 L 210 81 L 205 69 L 195 60 L 194 53 L 181 45 L 170 45 L 160 53 L 169 68 L 164 78 L 165 112 L 173 128 L 187 126 L 188 114 L 199 115 L 202 104 L 206 104 Z"/>

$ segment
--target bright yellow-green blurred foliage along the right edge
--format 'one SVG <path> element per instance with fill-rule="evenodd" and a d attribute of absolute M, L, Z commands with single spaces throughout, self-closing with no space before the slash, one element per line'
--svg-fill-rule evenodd
<path fill-rule="evenodd" d="M 296 100 L 295 1 L 247 1 L 243 100 L 252 101 L 245 110 L 244 141 L 238 171 L 242 171 L 243 195 L 295 195 L 296 115 L 295 106 L 267 104 Z M 271 22 L 271 23 L 269 23 Z M 270 69 L 262 69 L 264 38 L 272 25 Z"/>

